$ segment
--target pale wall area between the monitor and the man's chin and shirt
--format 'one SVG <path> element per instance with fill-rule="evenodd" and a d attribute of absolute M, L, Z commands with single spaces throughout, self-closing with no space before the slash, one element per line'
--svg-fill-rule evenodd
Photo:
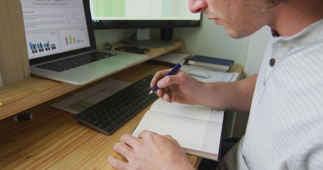
<path fill-rule="evenodd" d="M 234 60 L 244 65 L 249 37 L 233 39 L 223 26 L 214 24 L 203 14 L 200 28 L 174 28 L 173 38 L 184 40 L 184 52 Z"/>

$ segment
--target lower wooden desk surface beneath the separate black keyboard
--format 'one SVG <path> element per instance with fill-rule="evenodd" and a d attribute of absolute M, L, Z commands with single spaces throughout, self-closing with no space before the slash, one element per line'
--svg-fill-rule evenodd
<path fill-rule="evenodd" d="M 144 62 L 104 80 L 111 78 L 133 83 L 168 68 Z M 241 76 L 242 70 L 242 66 L 234 65 L 229 72 L 239 72 Z M 30 121 L 13 121 L 12 116 L 0 120 L 0 169 L 112 169 L 108 156 L 125 159 L 113 150 L 114 143 L 123 134 L 131 133 L 151 107 L 149 105 L 107 136 L 78 123 L 73 114 L 49 107 L 65 97 L 68 96 L 63 95 L 28 109 L 33 113 Z M 197 168 L 201 158 L 187 157 Z"/>

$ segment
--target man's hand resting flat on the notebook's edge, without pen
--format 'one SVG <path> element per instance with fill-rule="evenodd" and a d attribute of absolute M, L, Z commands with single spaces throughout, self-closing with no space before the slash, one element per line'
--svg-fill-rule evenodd
<path fill-rule="evenodd" d="M 170 135 L 143 130 L 138 138 L 126 134 L 114 144 L 114 150 L 129 163 L 109 156 L 111 166 L 119 170 L 128 169 L 194 169 L 184 150 Z"/>

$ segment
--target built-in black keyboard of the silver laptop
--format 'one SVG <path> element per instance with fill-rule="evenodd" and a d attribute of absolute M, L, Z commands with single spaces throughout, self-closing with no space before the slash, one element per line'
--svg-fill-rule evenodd
<path fill-rule="evenodd" d="M 70 57 L 70 58 L 53 61 L 42 65 L 37 65 L 35 67 L 51 70 L 51 71 L 62 72 L 75 67 L 79 67 L 81 65 L 89 64 L 94 61 L 102 60 L 102 59 L 111 57 L 113 55 L 117 55 L 117 54 L 112 54 L 107 52 L 90 52 L 90 53 L 78 55 L 75 57 Z"/>

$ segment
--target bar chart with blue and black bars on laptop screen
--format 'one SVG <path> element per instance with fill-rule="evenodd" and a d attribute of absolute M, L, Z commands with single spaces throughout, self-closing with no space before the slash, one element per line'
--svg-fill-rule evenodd
<path fill-rule="evenodd" d="M 56 31 L 26 34 L 26 42 L 29 59 L 56 53 L 61 50 Z"/>

